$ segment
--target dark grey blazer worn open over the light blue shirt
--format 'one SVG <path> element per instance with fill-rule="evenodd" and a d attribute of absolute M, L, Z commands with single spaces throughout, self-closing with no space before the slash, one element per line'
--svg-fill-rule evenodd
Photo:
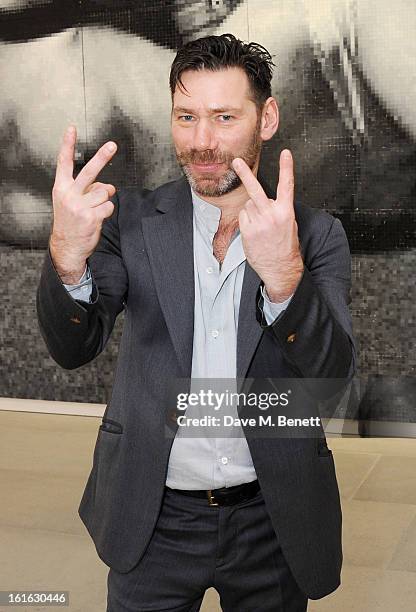
<path fill-rule="evenodd" d="M 153 191 L 121 189 L 113 202 L 88 260 L 92 303 L 68 294 L 48 249 L 36 306 L 47 348 L 66 369 L 101 353 L 125 310 L 111 398 L 79 515 L 104 563 L 128 572 L 143 555 L 161 507 L 173 440 L 165 432 L 168 382 L 191 375 L 192 198 L 181 178 Z M 261 279 L 246 262 L 237 376 L 350 379 L 356 349 L 344 229 L 332 215 L 299 202 L 295 215 L 305 269 L 271 326 L 261 324 Z M 325 437 L 247 441 L 293 575 L 310 599 L 323 597 L 339 586 L 342 564 L 340 498 Z"/>

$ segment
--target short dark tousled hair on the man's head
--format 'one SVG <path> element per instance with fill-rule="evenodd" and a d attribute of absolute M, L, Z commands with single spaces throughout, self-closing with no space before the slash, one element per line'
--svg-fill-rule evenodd
<path fill-rule="evenodd" d="M 244 43 L 233 34 L 204 36 L 181 47 L 172 62 L 169 76 L 173 94 L 179 83 L 185 89 L 181 76 L 186 70 L 222 70 L 242 68 L 246 73 L 253 102 L 262 109 L 271 93 L 273 66 L 270 53 L 255 42 Z"/>

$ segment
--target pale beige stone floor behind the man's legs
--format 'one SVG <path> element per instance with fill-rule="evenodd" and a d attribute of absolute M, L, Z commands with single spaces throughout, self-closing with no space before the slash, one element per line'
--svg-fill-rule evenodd
<path fill-rule="evenodd" d="M 108 568 L 77 513 L 100 421 L 96 410 L 85 417 L 0 406 L 0 591 L 65 590 L 70 612 L 105 612 Z M 328 442 L 343 506 L 342 586 L 310 601 L 308 612 L 414 610 L 416 440 Z M 201 610 L 221 610 L 214 589 Z"/>

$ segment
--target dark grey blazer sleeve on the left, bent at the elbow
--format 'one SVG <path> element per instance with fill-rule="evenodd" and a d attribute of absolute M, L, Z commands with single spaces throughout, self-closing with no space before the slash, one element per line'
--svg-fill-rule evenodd
<path fill-rule="evenodd" d="M 90 303 L 74 299 L 66 290 L 49 245 L 43 261 L 36 293 L 38 324 L 51 357 L 68 370 L 101 353 L 126 304 L 128 274 L 121 254 L 117 193 L 111 201 L 113 214 L 104 219 L 99 243 L 87 259 L 92 278 Z"/>

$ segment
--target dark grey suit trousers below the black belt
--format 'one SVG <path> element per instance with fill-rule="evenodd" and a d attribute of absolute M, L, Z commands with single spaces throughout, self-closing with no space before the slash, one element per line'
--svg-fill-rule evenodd
<path fill-rule="evenodd" d="M 223 612 L 304 612 L 261 490 L 232 506 L 165 489 L 150 543 L 127 574 L 108 573 L 107 612 L 198 612 L 214 587 Z"/>

